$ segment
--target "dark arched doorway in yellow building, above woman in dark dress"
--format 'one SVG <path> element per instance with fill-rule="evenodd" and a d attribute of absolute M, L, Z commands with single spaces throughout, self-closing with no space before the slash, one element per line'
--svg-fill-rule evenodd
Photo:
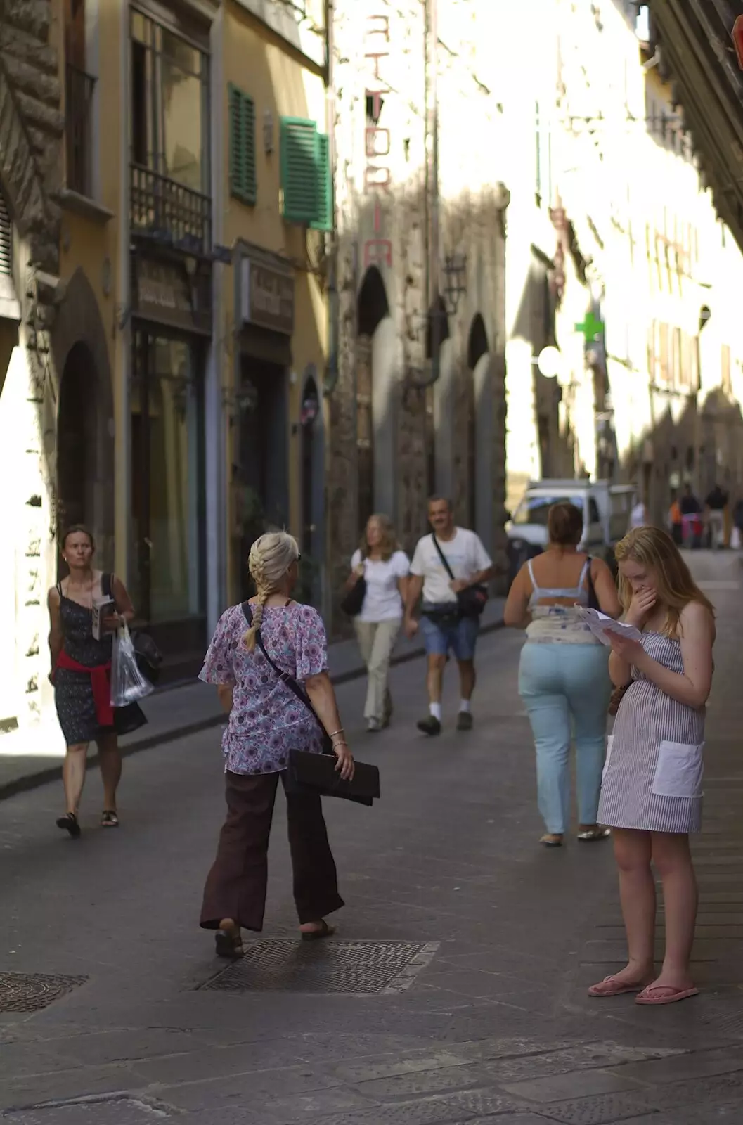
<path fill-rule="evenodd" d="M 56 528 L 85 523 L 96 558 L 114 569 L 114 396 L 106 330 L 81 269 L 70 279 L 52 332 L 56 404 Z"/>

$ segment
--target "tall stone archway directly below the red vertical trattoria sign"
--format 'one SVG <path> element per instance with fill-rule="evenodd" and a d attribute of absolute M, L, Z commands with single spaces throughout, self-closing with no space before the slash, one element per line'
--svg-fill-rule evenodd
<path fill-rule="evenodd" d="M 375 266 L 363 278 L 357 300 L 356 464 L 361 534 L 374 511 L 395 519 L 395 326 L 387 289 Z"/>

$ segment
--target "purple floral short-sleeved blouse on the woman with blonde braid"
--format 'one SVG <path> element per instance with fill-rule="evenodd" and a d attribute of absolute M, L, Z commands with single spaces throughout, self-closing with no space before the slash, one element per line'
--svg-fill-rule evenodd
<path fill-rule="evenodd" d="M 225 770 L 279 773 L 287 768 L 289 750 L 321 753 L 320 729 L 279 680 L 259 646 L 247 651 L 243 644 L 246 630 L 242 606 L 233 605 L 223 613 L 199 678 L 234 687 L 233 710 L 221 739 Z M 300 683 L 327 672 L 325 626 L 310 605 L 266 605 L 261 637 L 277 667 Z"/>

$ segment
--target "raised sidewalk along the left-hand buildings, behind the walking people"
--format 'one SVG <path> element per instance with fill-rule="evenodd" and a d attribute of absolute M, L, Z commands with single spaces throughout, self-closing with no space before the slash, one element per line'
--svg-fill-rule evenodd
<path fill-rule="evenodd" d="M 493 597 L 482 618 L 483 632 L 502 624 L 505 601 Z M 419 638 L 408 641 L 400 637 L 393 664 L 402 664 L 423 654 Z M 342 684 L 364 675 L 364 666 L 354 640 L 329 646 L 328 664 L 334 683 Z M 175 738 L 216 727 L 223 712 L 216 693 L 199 681 L 156 692 L 143 704 L 146 727 L 121 739 L 126 754 L 136 754 L 162 746 Z M 65 747 L 55 718 L 43 724 L 0 735 L 0 801 L 13 793 L 34 789 L 61 776 Z M 92 752 L 91 752 L 92 753 Z"/>

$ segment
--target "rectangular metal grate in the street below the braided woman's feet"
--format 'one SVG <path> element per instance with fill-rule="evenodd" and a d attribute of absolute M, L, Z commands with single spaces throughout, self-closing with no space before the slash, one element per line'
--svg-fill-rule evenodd
<path fill-rule="evenodd" d="M 229 992 L 401 992 L 437 942 L 259 942 L 202 984 Z"/>

